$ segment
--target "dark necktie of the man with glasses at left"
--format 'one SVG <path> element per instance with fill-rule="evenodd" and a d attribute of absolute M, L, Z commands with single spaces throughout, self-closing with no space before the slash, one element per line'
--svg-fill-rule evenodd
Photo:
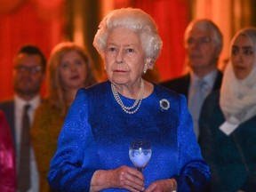
<path fill-rule="evenodd" d="M 22 116 L 22 133 L 20 142 L 20 164 L 18 190 L 27 192 L 30 188 L 30 136 L 29 136 L 29 105 L 25 105 Z"/>

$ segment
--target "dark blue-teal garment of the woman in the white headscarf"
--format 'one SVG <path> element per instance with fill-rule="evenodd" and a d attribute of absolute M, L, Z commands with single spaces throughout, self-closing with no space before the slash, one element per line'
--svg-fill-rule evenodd
<path fill-rule="evenodd" d="M 256 116 L 239 124 L 229 136 L 220 131 L 225 117 L 220 109 L 220 91 L 204 101 L 199 120 L 202 155 L 212 172 L 208 191 L 254 192 L 256 188 Z"/>

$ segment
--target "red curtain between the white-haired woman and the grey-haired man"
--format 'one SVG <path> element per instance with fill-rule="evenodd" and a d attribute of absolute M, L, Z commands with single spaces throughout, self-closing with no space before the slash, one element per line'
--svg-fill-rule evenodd
<path fill-rule="evenodd" d="M 163 40 L 163 51 L 156 61 L 161 80 L 182 75 L 185 63 L 183 35 L 189 21 L 188 1 L 135 0 L 134 4 L 154 18 Z"/>

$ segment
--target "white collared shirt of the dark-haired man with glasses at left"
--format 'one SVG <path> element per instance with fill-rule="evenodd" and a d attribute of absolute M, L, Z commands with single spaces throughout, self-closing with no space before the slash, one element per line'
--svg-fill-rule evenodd
<path fill-rule="evenodd" d="M 17 172 L 19 176 L 19 159 L 20 159 L 20 140 L 21 140 L 21 121 L 22 114 L 24 110 L 24 106 L 29 104 L 30 108 L 28 109 L 28 116 L 30 124 L 32 124 L 34 120 L 34 114 L 36 108 L 39 106 L 41 102 L 41 98 L 37 95 L 32 100 L 22 100 L 18 95 L 14 95 L 14 116 L 15 116 L 15 143 L 16 143 L 16 163 L 17 163 Z M 37 192 L 39 191 L 39 174 L 36 167 L 36 157 L 33 148 L 30 150 L 30 167 L 31 167 L 31 188 L 29 192 Z"/>

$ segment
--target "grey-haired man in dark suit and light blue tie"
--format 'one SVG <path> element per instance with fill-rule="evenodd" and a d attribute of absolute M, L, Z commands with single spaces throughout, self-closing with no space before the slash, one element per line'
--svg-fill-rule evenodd
<path fill-rule="evenodd" d="M 204 100 L 210 92 L 220 89 L 222 73 L 217 67 L 222 38 L 220 29 L 211 20 L 191 21 L 184 36 L 190 70 L 185 76 L 161 83 L 187 97 L 197 139 L 198 120 Z"/>

